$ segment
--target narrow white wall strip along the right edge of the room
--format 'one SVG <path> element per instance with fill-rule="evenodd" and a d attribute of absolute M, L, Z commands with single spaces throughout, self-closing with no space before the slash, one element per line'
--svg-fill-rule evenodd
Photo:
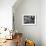
<path fill-rule="evenodd" d="M 46 46 L 46 0 L 41 1 L 41 40 L 42 46 Z"/>

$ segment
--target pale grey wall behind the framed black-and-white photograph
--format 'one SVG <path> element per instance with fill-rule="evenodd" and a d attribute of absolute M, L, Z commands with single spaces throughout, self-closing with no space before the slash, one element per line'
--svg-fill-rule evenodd
<path fill-rule="evenodd" d="M 13 7 L 15 18 L 15 29 L 23 33 L 24 39 L 35 41 L 36 46 L 41 46 L 41 1 L 40 0 L 23 0 L 17 7 Z M 36 14 L 36 25 L 22 25 L 22 16 L 24 14 Z"/>

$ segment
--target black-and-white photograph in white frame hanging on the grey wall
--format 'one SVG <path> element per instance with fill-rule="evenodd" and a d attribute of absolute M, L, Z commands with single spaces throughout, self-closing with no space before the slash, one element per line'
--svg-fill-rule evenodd
<path fill-rule="evenodd" d="M 22 24 L 23 25 L 36 25 L 36 15 L 23 15 Z"/>

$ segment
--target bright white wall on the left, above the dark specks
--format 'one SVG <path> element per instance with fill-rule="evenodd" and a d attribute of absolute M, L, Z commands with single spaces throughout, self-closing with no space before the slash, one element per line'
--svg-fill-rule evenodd
<path fill-rule="evenodd" d="M 12 28 L 12 6 L 16 0 L 0 0 L 0 27 Z"/>

